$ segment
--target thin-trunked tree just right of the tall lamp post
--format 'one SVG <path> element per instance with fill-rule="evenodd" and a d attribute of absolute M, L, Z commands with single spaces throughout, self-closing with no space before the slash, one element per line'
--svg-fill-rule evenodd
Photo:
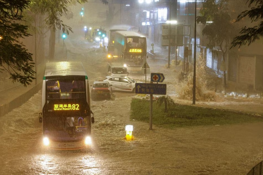
<path fill-rule="evenodd" d="M 222 52 L 223 66 L 225 68 L 226 56 L 229 51 L 231 38 L 235 33 L 230 13 L 227 8 L 228 0 L 205 0 L 200 9 L 197 23 L 205 25 L 202 34 L 208 39 L 207 48 L 216 54 L 216 50 Z M 211 21 L 208 23 L 208 21 Z M 224 69 L 224 87 L 226 74 Z"/>

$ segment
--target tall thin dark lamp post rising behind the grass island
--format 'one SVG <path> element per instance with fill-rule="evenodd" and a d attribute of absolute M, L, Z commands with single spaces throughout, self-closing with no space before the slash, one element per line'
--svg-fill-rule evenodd
<path fill-rule="evenodd" d="M 196 0 L 195 0 L 195 12 L 194 12 L 193 105 L 195 105 L 195 89 L 196 89 Z"/>

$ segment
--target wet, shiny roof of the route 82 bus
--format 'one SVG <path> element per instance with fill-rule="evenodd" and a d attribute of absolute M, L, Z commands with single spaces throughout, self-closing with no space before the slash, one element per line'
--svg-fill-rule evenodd
<path fill-rule="evenodd" d="M 45 76 L 84 75 L 87 73 L 81 62 L 59 61 L 46 63 Z"/>

